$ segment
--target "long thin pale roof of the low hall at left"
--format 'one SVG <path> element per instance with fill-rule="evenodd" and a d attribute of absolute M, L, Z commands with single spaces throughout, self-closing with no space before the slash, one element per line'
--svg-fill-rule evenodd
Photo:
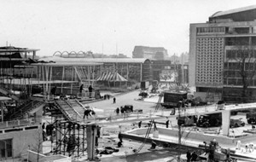
<path fill-rule="evenodd" d="M 148 59 L 131 59 L 131 58 L 63 58 L 59 56 L 51 56 L 39 59 L 39 61 L 55 61 L 59 62 L 98 62 L 98 63 L 144 63 L 145 61 L 149 61 Z"/>

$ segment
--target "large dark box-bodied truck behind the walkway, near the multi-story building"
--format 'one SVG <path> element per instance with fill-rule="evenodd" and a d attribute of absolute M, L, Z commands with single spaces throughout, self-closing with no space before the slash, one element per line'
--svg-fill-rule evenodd
<path fill-rule="evenodd" d="M 161 103 L 162 107 L 166 108 L 175 108 L 179 107 L 181 101 L 187 100 L 187 92 L 172 92 L 172 91 L 165 91 L 163 93 L 164 102 Z"/>

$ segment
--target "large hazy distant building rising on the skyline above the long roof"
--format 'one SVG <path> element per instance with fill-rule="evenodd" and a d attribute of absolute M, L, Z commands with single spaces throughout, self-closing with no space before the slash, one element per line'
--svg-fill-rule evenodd
<path fill-rule="evenodd" d="M 132 52 L 132 58 L 166 60 L 167 57 L 167 50 L 163 47 L 135 46 Z"/>

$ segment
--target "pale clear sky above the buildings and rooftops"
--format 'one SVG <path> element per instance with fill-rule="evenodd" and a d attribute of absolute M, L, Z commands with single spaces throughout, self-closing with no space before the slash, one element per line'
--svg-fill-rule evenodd
<path fill-rule="evenodd" d="M 189 52 L 189 24 L 255 0 L 0 0 L 0 46 L 132 56 L 136 45 Z"/>

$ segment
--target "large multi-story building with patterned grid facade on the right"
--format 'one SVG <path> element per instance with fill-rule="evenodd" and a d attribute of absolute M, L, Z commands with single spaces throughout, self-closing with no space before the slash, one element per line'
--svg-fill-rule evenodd
<path fill-rule="evenodd" d="M 251 55 L 256 48 L 255 20 L 256 5 L 217 12 L 206 23 L 190 24 L 189 85 L 195 86 L 197 92 L 227 92 L 230 89 L 241 92 L 243 84 L 237 68 L 238 58 L 246 53 L 250 54 L 247 58 L 255 58 Z M 250 49 L 239 56 L 239 51 L 246 48 Z M 249 59 L 251 64 L 253 59 Z M 255 70 L 255 64 L 252 66 L 245 70 Z M 250 95 L 254 88 L 255 77 L 248 86 Z M 236 91 L 234 95 L 237 94 Z"/>

